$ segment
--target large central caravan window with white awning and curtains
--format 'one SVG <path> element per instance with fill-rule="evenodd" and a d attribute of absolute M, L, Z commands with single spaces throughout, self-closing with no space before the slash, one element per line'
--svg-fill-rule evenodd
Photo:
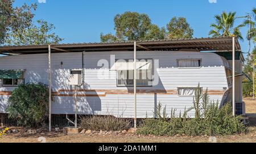
<path fill-rule="evenodd" d="M 123 63 L 123 62 L 122 62 Z M 152 78 L 152 59 L 145 59 L 137 62 L 137 86 L 150 86 Z M 116 67 L 117 68 L 117 67 Z M 117 85 L 133 86 L 134 63 L 126 61 L 125 67 L 120 65 L 117 68 Z"/>

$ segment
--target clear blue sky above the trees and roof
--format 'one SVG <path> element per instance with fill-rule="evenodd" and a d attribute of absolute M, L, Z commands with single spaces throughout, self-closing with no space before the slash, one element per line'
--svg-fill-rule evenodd
<path fill-rule="evenodd" d="M 39 3 L 42 1 L 46 3 Z M 165 27 L 174 16 L 183 16 L 194 29 L 193 37 L 208 37 L 214 15 L 222 11 L 236 11 L 238 16 L 243 16 L 256 7 L 255 0 L 16 0 L 14 5 L 23 3 L 38 3 L 34 20 L 44 19 L 53 23 L 57 35 L 65 39 L 63 43 L 99 42 L 101 32 L 114 33 L 113 18 L 125 11 L 145 13 L 152 23 L 160 27 Z M 247 29 L 241 29 L 244 38 Z M 243 52 L 247 52 L 246 39 L 240 44 Z"/>

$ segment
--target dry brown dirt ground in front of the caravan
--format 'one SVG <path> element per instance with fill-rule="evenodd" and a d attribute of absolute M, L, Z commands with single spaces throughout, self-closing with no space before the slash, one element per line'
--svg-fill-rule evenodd
<path fill-rule="evenodd" d="M 246 98 L 246 113 L 256 113 L 256 100 Z M 75 134 L 75 135 L 64 135 L 61 132 L 45 132 L 36 135 L 28 134 L 9 134 L 4 135 L 0 138 L 0 143 L 10 142 L 254 142 L 256 143 L 256 127 L 250 126 L 247 134 L 240 135 L 226 135 L 226 136 L 141 136 L 141 135 L 86 135 L 86 134 Z"/>

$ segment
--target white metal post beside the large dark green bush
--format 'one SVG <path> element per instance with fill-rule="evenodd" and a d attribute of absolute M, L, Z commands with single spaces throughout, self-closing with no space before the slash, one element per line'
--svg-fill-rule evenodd
<path fill-rule="evenodd" d="M 52 131 L 52 73 L 51 73 L 51 45 L 48 45 L 48 65 L 49 65 L 49 132 Z"/>

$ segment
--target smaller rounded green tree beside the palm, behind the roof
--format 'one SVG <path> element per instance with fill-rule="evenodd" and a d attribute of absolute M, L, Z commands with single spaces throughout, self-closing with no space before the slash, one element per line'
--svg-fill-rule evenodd
<path fill-rule="evenodd" d="M 167 24 L 167 38 L 192 38 L 193 29 L 189 26 L 185 18 L 172 18 Z"/>

